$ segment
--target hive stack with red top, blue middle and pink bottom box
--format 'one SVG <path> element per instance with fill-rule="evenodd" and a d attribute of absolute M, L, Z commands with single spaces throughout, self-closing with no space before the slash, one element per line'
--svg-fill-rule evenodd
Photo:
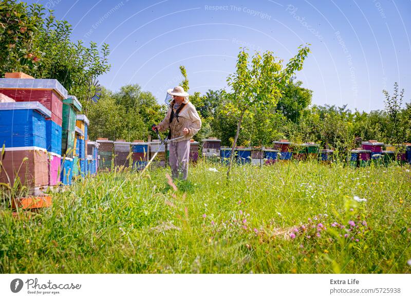
<path fill-rule="evenodd" d="M 48 155 L 48 185 L 59 183 L 61 160 L 62 108 L 67 90 L 54 79 L 0 79 L 0 93 L 16 102 L 38 102 L 50 111 L 45 119 Z"/>

